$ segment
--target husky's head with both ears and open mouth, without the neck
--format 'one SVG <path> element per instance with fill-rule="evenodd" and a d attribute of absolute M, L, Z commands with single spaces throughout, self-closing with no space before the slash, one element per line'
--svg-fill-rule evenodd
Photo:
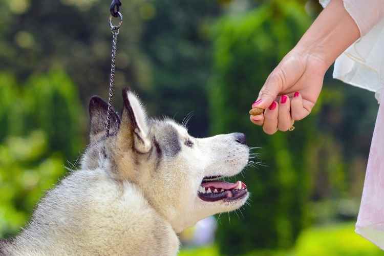
<path fill-rule="evenodd" d="M 123 91 L 121 120 L 111 114 L 110 136 L 105 136 L 106 103 L 90 102 L 91 144 L 82 168 L 104 168 L 117 182 L 129 182 L 176 232 L 197 221 L 241 207 L 246 185 L 220 178 L 239 174 L 249 148 L 240 133 L 194 138 L 171 119 L 148 119 L 138 97 Z"/>

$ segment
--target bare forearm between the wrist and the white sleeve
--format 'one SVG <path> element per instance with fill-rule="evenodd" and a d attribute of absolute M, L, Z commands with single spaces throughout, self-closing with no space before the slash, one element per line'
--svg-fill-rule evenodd
<path fill-rule="evenodd" d="M 342 0 L 332 0 L 297 43 L 295 50 L 321 59 L 329 66 L 360 37 Z"/>

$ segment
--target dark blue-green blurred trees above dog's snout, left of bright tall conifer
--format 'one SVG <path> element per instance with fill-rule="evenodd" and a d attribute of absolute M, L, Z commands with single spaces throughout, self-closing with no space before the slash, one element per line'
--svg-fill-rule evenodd
<path fill-rule="evenodd" d="M 206 136 L 205 89 L 211 66 L 206 30 L 219 5 L 211 0 L 156 0 L 153 6 L 156 15 L 145 24 L 142 42 L 152 80 L 151 86 L 141 86 L 141 95 L 152 113 L 181 121 L 193 111 L 190 134 Z"/>

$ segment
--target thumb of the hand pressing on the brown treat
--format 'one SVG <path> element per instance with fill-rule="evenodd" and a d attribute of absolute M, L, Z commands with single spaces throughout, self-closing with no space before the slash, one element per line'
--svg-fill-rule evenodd
<path fill-rule="evenodd" d="M 261 88 L 258 99 L 252 104 L 252 108 L 268 108 L 278 97 L 284 88 L 284 74 L 280 68 L 276 68 L 267 78 Z"/>

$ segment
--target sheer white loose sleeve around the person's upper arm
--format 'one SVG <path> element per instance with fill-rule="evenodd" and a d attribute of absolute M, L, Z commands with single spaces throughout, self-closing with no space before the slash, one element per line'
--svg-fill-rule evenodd
<path fill-rule="evenodd" d="M 377 2 L 376 0 L 367 2 L 360 0 L 358 2 L 360 5 L 357 5 L 356 1 L 344 0 L 346 10 L 355 20 L 363 36 L 336 59 L 333 71 L 334 78 L 375 92 L 378 102 L 380 102 L 380 92 L 384 88 L 384 19 L 380 20 L 378 17 L 384 9 L 384 1 L 380 1 L 382 7 L 376 8 L 367 3 Z M 330 0 L 319 2 L 326 7 Z M 372 15 L 363 19 L 361 14 L 356 16 L 359 11 L 362 13 L 371 11 Z M 379 23 L 367 31 L 369 29 L 367 24 L 370 24 L 367 20 L 377 19 Z"/>

